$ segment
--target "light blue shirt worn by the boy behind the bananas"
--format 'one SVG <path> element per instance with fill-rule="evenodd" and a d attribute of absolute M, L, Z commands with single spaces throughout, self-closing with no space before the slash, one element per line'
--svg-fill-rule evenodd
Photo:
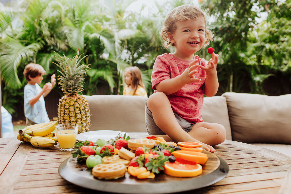
<path fill-rule="evenodd" d="M 37 83 L 35 85 L 27 84 L 24 86 L 24 115 L 35 123 L 49 122 L 49 116 L 45 109 L 45 99 L 43 98 L 43 95 L 33 106 L 30 106 L 29 104 L 29 101 L 41 91 L 42 89 Z"/>

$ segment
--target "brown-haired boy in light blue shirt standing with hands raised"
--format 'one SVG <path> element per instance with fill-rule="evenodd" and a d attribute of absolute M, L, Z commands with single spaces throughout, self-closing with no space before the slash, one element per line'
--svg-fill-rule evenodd
<path fill-rule="evenodd" d="M 56 75 L 53 74 L 51 76 L 51 83 L 45 83 L 41 88 L 39 84 L 45 73 L 41 65 L 29 63 L 25 66 L 23 74 L 28 82 L 24 86 L 24 115 L 26 117 L 26 126 L 49 122 L 44 97 L 48 95 L 56 84 Z"/>

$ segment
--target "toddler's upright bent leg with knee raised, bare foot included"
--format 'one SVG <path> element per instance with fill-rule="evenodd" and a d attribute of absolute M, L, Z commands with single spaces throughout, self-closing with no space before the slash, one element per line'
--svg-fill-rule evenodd
<path fill-rule="evenodd" d="M 175 118 L 168 97 L 163 92 L 156 92 L 150 95 L 147 101 L 147 106 L 152 112 L 152 117 L 157 126 L 167 134 L 162 136 L 166 141 L 194 141 L 202 143 L 200 140 L 194 138 L 194 136 L 191 136 L 182 129 Z M 204 142 L 202 144 L 202 147 L 207 151 L 215 152 L 215 149 L 212 146 L 207 145 Z"/>

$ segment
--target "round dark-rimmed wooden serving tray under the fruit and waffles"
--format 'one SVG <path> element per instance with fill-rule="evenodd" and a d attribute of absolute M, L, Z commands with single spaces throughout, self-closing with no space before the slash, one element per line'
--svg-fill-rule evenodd
<path fill-rule="evenodd" d="M 197 177 L 178 178 L 164 173 L 156 175 L 154 179 L 138 179 L 129 175 L 115 180 L 94 178 L 92 168 L 86 163 L 77 163 L 77 158 L 70 157 L 63 161 L 58 172 L 65 180 L 89 189 L 112 193 L 140 193 L 158 194 L 175 193 L 203 188 L 223 179 L 228 171 L 228 164 L 218 156 L 203 150 L 208 156 L 207 162 L 202 165 L 203 172 Z"/>

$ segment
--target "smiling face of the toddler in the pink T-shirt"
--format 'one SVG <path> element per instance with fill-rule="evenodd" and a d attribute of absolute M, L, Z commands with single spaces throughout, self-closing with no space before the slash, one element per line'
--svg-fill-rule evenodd
<path fill-rule="evenodd" d="M 174 33 L 168 34 L 171 43 L 174 43 L 175 56 L 184 60 L 192 60 L 194 53 L 199 51 L 205 43 L 205 21 L 198 18 L 195 21 L 175 22 Z"/>

